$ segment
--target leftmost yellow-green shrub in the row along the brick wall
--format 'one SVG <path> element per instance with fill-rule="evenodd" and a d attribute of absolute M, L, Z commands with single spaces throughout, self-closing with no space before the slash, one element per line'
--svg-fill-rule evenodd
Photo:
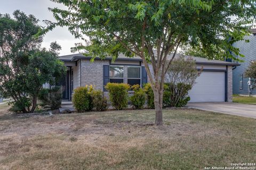
<path fill-rule="evenodd" d="M 74 90 L 72 102 L 78 112 L 90 111 L 92 109 L 92 100 L 90 96 L 91 88 L 78 87 Z"/>

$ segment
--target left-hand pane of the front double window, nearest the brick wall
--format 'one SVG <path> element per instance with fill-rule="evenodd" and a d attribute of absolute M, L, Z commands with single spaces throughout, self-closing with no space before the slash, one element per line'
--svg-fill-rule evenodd
<path fill-rule="evenodd" d="M 110 83 L 123 83 L 124 82 L 124 66 L 110 66 L 109 81 Z"/>

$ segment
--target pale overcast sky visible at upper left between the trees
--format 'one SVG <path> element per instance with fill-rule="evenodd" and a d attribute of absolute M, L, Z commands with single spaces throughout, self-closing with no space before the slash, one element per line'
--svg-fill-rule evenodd
<path fill-rule="evenodd" d="M 0 0 L 0 13 L 12 14 L 15 10 L 20 10 L 26 14 L 33 14 L 40 20 L 39 24 L 44 26 L 43 20 L 55 21 L 52 13 L 48 11 L 48 7 L 64 8 L 61 4 L 56 4 L 50 0 Z M 12 15 L 11 15 L 12 16 Z M 75 39 L 67 28 L 55 28 L 53 31 L 47 33 L 44 37 L 42 47 L 49 48 L 52 41 L 57 41 L 61 45 L 60 55 L 72 54 L 70 47 L 74 47 L 75 43 L 81 42 Z"/>

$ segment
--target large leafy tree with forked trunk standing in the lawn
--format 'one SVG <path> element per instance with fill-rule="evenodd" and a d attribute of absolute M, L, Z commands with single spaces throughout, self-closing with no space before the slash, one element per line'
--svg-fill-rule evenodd
<path fill-rule="evenodd" d="M 250 0 L 52 1 L 68 8 L 49 8 L 57 22 L 47 21 L 43 33 L 67 26 L 76 38 L 90 39 L 73 50 L 86 49 L 88 55 L 101 58 L 115 59 L 123 53 L 142 59 L 154 91 L 156 125 L 163 124 L 164 77 L 179 46 L 200 45 L 209 57 L 232 57 L 227 49 L 239 55 L 231 44 L 243 39 L 256 14 L 255 1 Z M 233 39 L 227 41 L 228 37 Z M 167 57 L 170 53 L 172 58 Z"/>

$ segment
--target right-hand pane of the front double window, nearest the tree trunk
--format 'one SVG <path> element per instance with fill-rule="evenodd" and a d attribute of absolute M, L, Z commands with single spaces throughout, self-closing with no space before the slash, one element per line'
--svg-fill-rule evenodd
<path fill-rule="evenodd" d="M 127 83 L 133 86 L 134 84 L 140 85 L 140 66 L 127 67 Z"/>

